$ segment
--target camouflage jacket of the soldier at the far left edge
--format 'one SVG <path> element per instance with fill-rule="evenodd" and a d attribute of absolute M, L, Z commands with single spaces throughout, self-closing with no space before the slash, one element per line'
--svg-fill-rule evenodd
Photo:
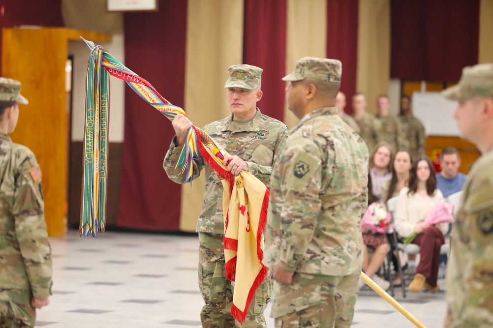
<path fill-rule="evenodd" d="M 51 295 L 51 247 L 34 153 L 0 134 L 0 304 L 27 291 Z M 16 310 L 16 309 L 14 309 Z"/>

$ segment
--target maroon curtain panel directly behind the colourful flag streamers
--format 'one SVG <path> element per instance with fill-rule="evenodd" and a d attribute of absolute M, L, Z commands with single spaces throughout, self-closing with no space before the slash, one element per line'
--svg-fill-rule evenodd
<path fill-rule="evenodd" d="M 183 107 L 187 1 L 160 0 L 158 12 L 125 14 L 125 65 Z M 120 227 L 178 231 L 181 187 L 163 169 L 171 122 L 125 89 Z"/>

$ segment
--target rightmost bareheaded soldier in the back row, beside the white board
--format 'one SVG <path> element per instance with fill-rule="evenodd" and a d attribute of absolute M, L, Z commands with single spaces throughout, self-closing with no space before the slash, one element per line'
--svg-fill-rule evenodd
<path fill-rule="evenodd" d="M 424 134 L 423 123 L 411 114 L 411 98 L 407 95 L 401 96 L 400 122 L 409 143 L 409 152 L 413 160 L 419 155 L 424 155 L 426 146 L 426 136 Z"/>

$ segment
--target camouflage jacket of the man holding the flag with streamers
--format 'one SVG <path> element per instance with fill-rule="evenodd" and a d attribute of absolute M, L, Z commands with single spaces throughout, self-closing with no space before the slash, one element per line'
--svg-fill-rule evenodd
<path fill-rule="evenodd" d="M 288 129 L 284 123 L 261 114 L 257 108 L 255 117 L 244 125 L 237 126 L 231 115 L 207 124 L 203 130 L 229 154 L 246 161 L 248 172 L 269 187 L 274 160 L 288 135 Z M 174 140 L 166 153 L 163 167 L 170 179 L 176 183 L 185 183 L 186 175 L 181 172 L 181 168 L 174 170 L 180 151 L 181 148 L 176 148 Z M 202 156 L 199 160 L 194 160 L 192 179 L 198 178 L 204 167 L 206 186 L 202 212 L 197 222 L 197 232 L 222 235 L 224 234 L 222 184 L 211 167 L 204 162 Z"/>

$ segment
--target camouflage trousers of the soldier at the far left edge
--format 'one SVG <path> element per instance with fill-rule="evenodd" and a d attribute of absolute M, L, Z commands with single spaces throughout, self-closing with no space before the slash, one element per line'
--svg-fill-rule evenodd
<path fill-rule="evenodd" d="M 0 328 L 34 327 L 36 310 L 31 298 L 29 291 L 0 289 Z"/>

